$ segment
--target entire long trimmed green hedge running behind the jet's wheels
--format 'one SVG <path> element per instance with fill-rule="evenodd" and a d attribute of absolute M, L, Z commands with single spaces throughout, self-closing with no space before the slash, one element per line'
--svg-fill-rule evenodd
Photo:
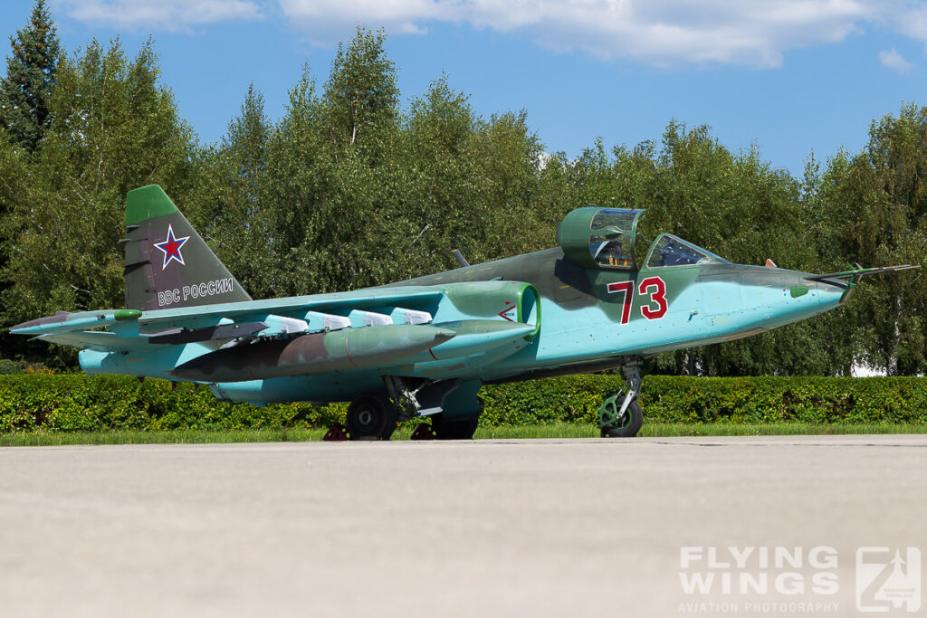
<path fill-rule="evenodd" d="M 615 375 L 486 386 L 484 425 L 594 423 Z M 923 378 L 644 378 L 644 421 L 665 423 L 927 423 Z M 226 403 L 205 387 L 171 389 L 126 376 L 0 375 L 0 433 L 108 429 L 324 427 L 346 404 Z"/>

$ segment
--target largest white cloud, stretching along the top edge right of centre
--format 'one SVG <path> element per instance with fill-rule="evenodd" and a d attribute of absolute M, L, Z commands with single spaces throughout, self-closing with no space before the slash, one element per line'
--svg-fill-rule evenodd
<path fill-rule="evenodd" d="M 756 67 L 779 66 L 788 49 L 840 41 L 875 14 L 871 0 L 280 0 L 280 6 L 320 43 L 344 38 L 358 22 L 398 33 L 450 21 L 529 32 L 544 46 L 595 57 Z"/>

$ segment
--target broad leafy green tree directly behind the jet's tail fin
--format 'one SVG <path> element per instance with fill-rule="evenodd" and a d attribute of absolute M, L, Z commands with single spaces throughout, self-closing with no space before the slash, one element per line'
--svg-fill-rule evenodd
<path fill-rule="evenodd" d="M 116 40 L 63 57 L 52 122 L 29 161 L 28 198 L 9 212 L 3 279 L 9 322 L 49 310 L 120 307 L 125 195 L 160 184 L 199 222 L 191 196 L 199 156 L 150 42 L 126 57 Z M 54 308 L 54 309 L 51 309 Z"/>

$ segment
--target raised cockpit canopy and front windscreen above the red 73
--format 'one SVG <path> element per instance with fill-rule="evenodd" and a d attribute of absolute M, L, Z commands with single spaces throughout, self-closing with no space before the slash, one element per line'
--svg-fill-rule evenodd
<path fill-rule="evenodd" d="M 577 208 L 567 213 L 557 226 L 557 244 L 579 266 L 636 271 L 637 226 L 643 213 L 642 209 L 631 208 Z M 669 233 L 657 236 L 643 263 L 647 268 L 730 264 Z"/>

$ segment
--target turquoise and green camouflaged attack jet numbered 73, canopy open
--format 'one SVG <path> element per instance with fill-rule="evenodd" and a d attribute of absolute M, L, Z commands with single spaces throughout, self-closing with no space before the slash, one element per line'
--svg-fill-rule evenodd
<path fill-rule="evenodd" d="M 559 246 L 396 284 L 252 300 L 157 185 L 127 195 L 125 307 L 11 331 L 82 348 L 87 373 L 210 385 L 256 405 L 351 401 L 352 438 L 430 415 L 470 438 L 481 385 L 621 368 L 603 436 L 641 428 L 641 358 L 730 341 L 844 303 L 864 275 L 744 266 L 668 233 L 635 259 L 643 210 L 578 208 Z"/>

